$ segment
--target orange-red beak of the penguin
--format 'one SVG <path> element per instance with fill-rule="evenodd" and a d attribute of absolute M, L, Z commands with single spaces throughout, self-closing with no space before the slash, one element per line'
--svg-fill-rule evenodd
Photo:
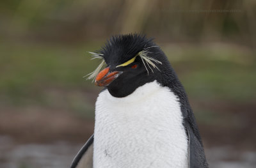
<path fill-rule="evenodd" d="M 105 68 L 97 75 L 95 79 L 96 86 L 108 86 L 113 80 L 115 80 L 123 72 L 109 72 L 109 67 Z"/>

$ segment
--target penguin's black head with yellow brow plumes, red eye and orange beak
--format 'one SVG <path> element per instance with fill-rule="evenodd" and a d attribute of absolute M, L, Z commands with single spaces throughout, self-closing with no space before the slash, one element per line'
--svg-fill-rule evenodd
<path fill-rule="evenodd" d="M 130 95 L 136 88 L 157 80 L 163 84 L 164 75 L 172 67 L 159 46 L 140 34 L 112 36 L 94 58 L 102 59 L 98 68 L 88 74 L 96 86 L 104 86 L 115 97 Z M 102 66 L 106 68 L 100 71 Z"/>

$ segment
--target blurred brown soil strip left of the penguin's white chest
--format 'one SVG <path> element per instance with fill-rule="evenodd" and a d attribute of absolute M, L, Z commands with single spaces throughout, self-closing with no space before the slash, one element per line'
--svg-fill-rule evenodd
<path fill-rule="evenodd" d="M 4 108 L 0 112 L 0 135 L 16 142 L 85 142 L 93 134 L 92 119 L 71 112 L 39 108 Z"/>

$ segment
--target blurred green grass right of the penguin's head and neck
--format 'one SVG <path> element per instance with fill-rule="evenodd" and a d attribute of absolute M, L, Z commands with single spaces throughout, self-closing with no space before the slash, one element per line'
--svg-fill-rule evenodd
<path fill-rule="evenodd" d="M 253 102 L 256 99 L 256 61 L 237 46 L 188 47 L 168 52 L 169 60 L 191 98 Z"/>

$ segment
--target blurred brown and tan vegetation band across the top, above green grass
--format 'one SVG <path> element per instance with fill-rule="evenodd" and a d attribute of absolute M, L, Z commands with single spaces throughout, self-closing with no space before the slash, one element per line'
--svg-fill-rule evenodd
<path fill-rule="evenodd" d="M 165 42 L 227 40 L 252 47 L 256 38 L 253 0 L 3 0 L 0 11 L 2 42 L 92 42 L 142 32 Z"/>

